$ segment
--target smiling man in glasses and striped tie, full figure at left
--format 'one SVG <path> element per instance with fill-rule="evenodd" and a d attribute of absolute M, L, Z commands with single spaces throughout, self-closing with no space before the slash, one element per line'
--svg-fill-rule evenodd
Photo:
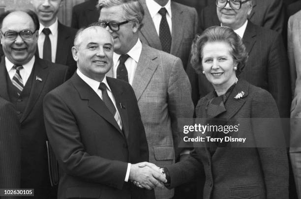
<path fill-rule="evenodd" d="M 42 102 L 65 81 L 68 67 L 34 57 L 39 23 L 33 11 L 8 11 L 0 19 L 5 55 L 0 63 L 0 96 L 15 106 L 21 123 L 21 188 L 34 189 L 32 199 L 53 199 Z"/>

